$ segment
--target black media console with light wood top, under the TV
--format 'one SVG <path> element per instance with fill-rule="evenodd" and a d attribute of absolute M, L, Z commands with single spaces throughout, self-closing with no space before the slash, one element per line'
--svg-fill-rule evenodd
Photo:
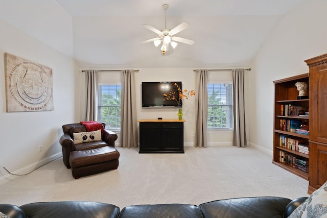
<path fill-rule="evenodd" d="M 184 153 L 184 122 L 179 119 L 141 119 L 138 153 Z"/>

